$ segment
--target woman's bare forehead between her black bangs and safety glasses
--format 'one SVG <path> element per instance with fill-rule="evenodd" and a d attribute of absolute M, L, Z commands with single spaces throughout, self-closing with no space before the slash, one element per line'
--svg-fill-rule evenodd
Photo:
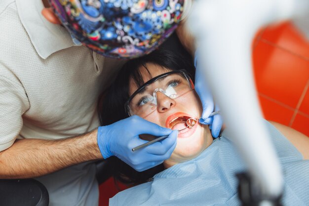
<path fill-rule="evenodd" d="M 154 63 L 147 63 L 146 64 L 147 69 L 144 66 L 141 66 L 139 68 L 139 71 L 143 78 L 143 83 L 148 82 L 149 80 L 153 79 L 154 77 L 157 77 L 161 74 L 170 72 L 170 69 L 167 69 L 165 67 L 162 67 L 160 65 L 154 64 Z M 142 84 L 143 84 L 142 83 Z M 131 78 L 129 83 L 129 96 L 131 96 L 137 89 L 139 88 L 139 85 L 137 85 L 134 80 Z"/>

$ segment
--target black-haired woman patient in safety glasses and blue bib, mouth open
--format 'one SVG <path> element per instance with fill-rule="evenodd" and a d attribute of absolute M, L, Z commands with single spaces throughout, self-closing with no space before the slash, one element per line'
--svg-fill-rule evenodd
<path fill-rule="evenodd" d="M 108 98 L 100 102 L 102 124 L 136 115 L 171 129 L 185 128 L 187 119 L 202 113 L 190 77 L 193 73 L 190 62 L 164 50 L 127 62 L 108 90 Z M 309 159 L 309 139 L 275 124 L 289 141 L 273 125 L 265 124 L 284 170 L 284 205 L 307 205 L 309 162 L 304 159 Z M 146 142 L 153 137 L 145 134 L 140 138 Z M 222 138 L 213 140 L 208 125 L 197 123 L 179 132 L 171 157 L 152 169 L 136 172 L 119 160 L 115 165 L 116 179 L 143 184 L 118 193 L 110 200 L 111 206 L 240 205 L 235 174 L 244 171 L 245 165 L 229 134 L 224 131 Z"/>

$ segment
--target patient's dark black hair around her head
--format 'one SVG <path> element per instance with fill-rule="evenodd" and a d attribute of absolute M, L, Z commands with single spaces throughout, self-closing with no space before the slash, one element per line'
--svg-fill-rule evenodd
<path fill-rule="evenodd" d="M 149 63 L 156 64 L 162 69 L 166 68 L 171 71 L 183 69 L 188 71 L 194 78 L 195 69 L 193 62 L 188 61 L 181 55 L 176 55 L 164 49 L 157 49 L 151 54 L 126 62 L 116 77 L 115 82 L 100 97 L 98 112 L 101 125 L 113 124 L 129 117 L 125 112 L 124 104 L 129 98 L 130 79 L 133 80 L 137 87 L 144 84 L 145 82 L 140 73 L 140 68 L 144 68 L 151 76 L 147 68 L 147 64 Z M 138 172 L 115 157 L 112 157 L 110 161 L 114 170 L 114 178 L 126 184 L 144 183 L 153 177 L 154 174 L 164 169 L 161 164 L 146 171 Z"/>

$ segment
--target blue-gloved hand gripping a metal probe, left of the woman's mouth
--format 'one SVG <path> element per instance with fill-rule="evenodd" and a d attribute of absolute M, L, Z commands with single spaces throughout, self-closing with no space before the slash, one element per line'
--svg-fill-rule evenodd
<path fill-rule="evenodd" d="M 140 134 L 169 135 L 166 139 L 132 152 L 132 148 L 148 141 Z M 116 156 L 137 171 L 144 171 L 168 159 L 177 143 L 177 130 L 171 130 L 148 122 L 138 116 L 120 120 L 98 128 L 98 145 L 104 159 Z"/>

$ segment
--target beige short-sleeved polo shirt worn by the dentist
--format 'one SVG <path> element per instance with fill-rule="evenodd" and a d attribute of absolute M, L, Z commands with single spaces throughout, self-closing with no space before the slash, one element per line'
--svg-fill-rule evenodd
<path fill-rule="evenodd" d="M 41 0 L 0 0 L 0 151 L 16 138 L 60 139 L 99 126 L 98 95 L 124 63 L 76 46 L 42 8 Z M 37 179 L 50 206 L 98 203 L 92 164 Z"/>

